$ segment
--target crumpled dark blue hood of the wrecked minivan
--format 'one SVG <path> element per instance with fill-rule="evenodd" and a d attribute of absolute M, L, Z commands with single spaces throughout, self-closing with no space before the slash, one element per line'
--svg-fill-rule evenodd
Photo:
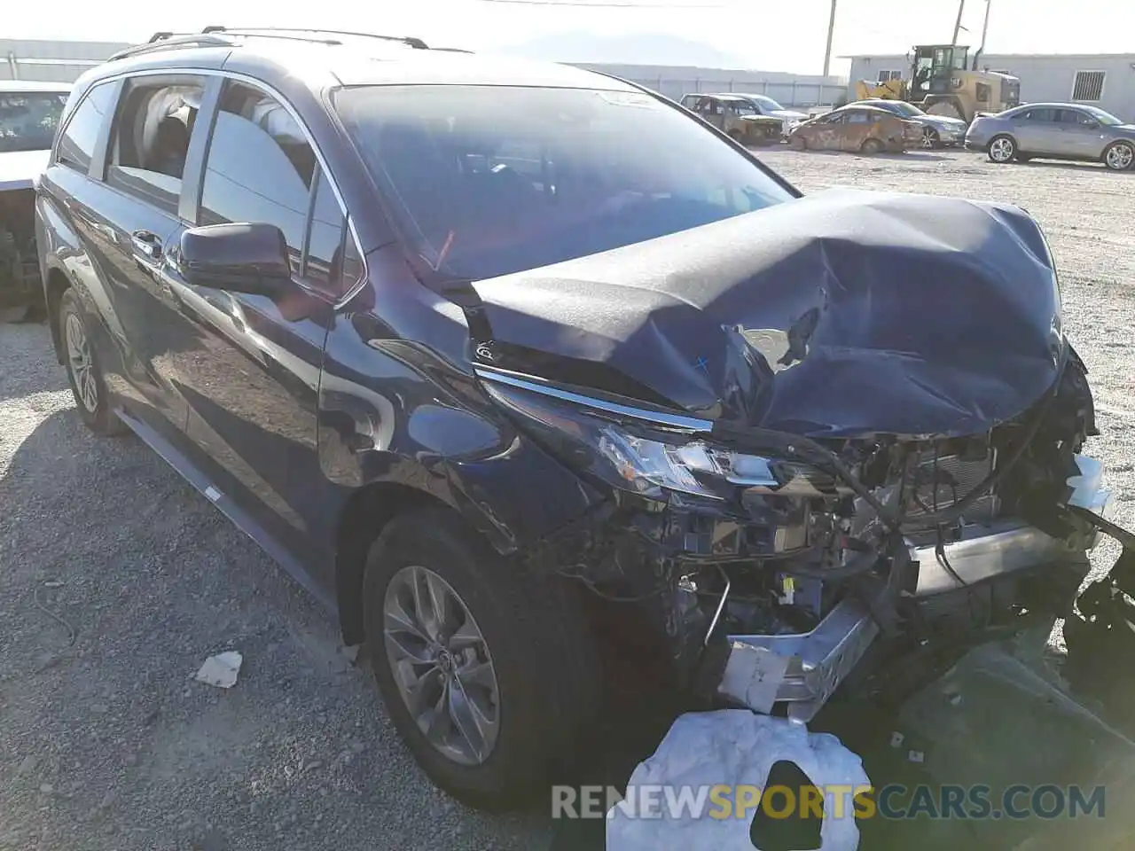
<path fill-rule="evenodd" d="M 473 285 L 484 363 L 812 437 L 972 435 L 1054 381 L 1022 210 L 833 191 Z"/>

